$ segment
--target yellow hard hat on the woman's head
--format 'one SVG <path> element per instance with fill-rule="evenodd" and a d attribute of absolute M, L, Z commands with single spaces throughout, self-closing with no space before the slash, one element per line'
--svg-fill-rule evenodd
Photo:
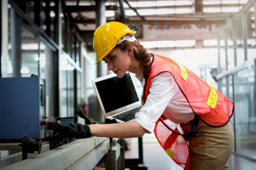
<path fill-rule="evenodd" d="M 102 60 L 116 46 L 117 41 L 121 41 L 123 36 L 127 34 L 134 35 L 135 33 L 136 31 L 115 21 L 99 26 L 93 34 L 93 48 L 98 59 L 95 64 Z M 134 41 L 134 39 L 133 36 L 131 41 Z"/>

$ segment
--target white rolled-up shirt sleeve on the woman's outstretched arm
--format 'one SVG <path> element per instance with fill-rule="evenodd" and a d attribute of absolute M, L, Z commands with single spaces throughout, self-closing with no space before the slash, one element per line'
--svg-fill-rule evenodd
<path fill-rule="evenodd" d="M 163 114 L 168 103 L 178 90 L 172 74 L 164 72 L 151 79 L 145 105 L 135 114 L 135 121 L 148 133 L 153 133 L 155 122 Z"/>

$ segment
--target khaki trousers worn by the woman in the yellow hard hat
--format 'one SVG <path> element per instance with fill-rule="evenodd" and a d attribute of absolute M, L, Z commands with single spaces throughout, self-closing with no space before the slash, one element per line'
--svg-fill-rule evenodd
<path fill-rule="evenodd" d="M 191 131 L 192 121 L 180 124 L 184 134 Z M 234 133 L 230 122 L 223 127 L 210 127 L 199 120 L 195 137 L 188 140 L 190 170 L 228 170 L 234 147 Z"/>

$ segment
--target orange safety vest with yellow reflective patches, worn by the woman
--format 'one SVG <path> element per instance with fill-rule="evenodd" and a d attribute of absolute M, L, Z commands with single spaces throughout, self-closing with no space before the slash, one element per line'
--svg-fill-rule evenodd
<path fill-rule="evenodd" d="M 197 121 L 194 119 L 193 124 L 194 122 L 198 124 L 199 117 L 211 127 L 221 127 L 229 122 L 233 115 L 233 103 L 192 71 L 167 57 L 154 55 L 145 91 L 146 97 L 150 94 L 151 79 L 163 72 L 172 74 L 180 91 L 189 102 L 192 111 L 195 113 L 195 118 L 198 118 Z M 169 124 L 168 121 L 162 115 L 155 124 L 154 134 L 172 160 L 183 167 L 184 170 L 189 170 L 189 144 L 186 140 L 191 135 L 188 138 L 186 134 L 177 130 L 177 124 L 173 122 Z M 192 130 L 196 130 L 196 127 Z M 195 136 L 195 133 L 192 136 Z"/>

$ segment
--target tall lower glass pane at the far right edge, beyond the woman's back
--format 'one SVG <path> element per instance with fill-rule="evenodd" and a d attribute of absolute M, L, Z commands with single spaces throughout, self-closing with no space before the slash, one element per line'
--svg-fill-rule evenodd
<path fill-rule="evenodd" d="M 234 75 L 236 148 L 246 156 L 256 156 L 256 113 L 254 67 Z"/>

